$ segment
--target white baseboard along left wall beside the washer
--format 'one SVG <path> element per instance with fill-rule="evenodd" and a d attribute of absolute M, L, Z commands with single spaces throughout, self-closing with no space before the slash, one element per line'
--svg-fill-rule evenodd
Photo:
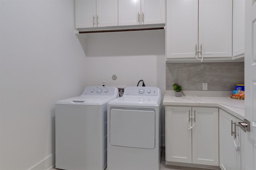
<path fill-rule="evenodd" d="M 32 166 L 28 170 L 49 170 L 54 165 L 55 165 L 55 153 L 47 156 L 38 164 Z"/>

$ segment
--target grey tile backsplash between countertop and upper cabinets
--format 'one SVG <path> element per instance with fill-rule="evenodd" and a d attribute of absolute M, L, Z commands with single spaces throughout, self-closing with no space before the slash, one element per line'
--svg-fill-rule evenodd
<path fill-rule="evenodd" d="M 172 84 L 182 85 L 183 90 L 232 91 L 236 84 L 244 84 L 244 62 L 230 63 L 166 63 L 166 90 Z"/>

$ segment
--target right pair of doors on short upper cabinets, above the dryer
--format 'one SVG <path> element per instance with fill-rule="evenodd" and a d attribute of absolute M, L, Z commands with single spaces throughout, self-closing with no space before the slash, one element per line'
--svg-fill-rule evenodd
<path fill-rule="evenodd" d="M 165 0 L 118 0 L 118 25 L 165 23 Z"/>

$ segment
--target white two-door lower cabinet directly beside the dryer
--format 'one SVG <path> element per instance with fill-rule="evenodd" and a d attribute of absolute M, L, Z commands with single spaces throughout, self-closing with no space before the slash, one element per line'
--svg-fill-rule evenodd
<path fill-rule="evenodd" d="M 219 166 L 218 108 L 166 106 L 166 161 Z"/>

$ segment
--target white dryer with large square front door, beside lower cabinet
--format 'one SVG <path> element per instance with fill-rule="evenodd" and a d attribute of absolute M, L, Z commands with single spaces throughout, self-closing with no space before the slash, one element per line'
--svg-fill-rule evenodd
<path fill-rule="evenodd" d="M 159 170 L 161 92 L 127 87 L 108 103 L 108 170 Z"/>

